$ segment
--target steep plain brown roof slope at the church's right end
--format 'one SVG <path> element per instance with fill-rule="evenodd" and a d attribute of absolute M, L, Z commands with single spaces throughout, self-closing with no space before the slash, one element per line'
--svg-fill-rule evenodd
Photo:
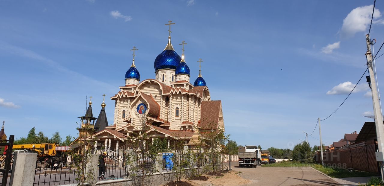
<path fill-rule="evenodd" d="M 217 129 L 221 101 L 202 101 L 201 119 L 198 124 L 201 129 Z"/>

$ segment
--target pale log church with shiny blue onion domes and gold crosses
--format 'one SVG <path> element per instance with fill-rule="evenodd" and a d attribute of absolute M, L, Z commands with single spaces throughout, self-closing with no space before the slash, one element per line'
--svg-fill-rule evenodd
<path fill-rule="evenodd" d="M 140 79 L 139 70 L 135 66 L 135 51 L 131 67 L 126 71 L 125 85 L 119 87 L 116 95 L 111 97 L 114 104 L 113 125 L 108 125 L 103 102 L 98 118 L 93 117 L 91 102 L 86 115 L 80 117 L 85 124 L 84 129 L 93 128 L 89 137 L 94 141 L 96 151 L 108 151 L 117 154 L 119 149 L 133 148 L 132 134 L 147 126 L 147 136 L 166 139 L 169 148 L 177 149 L 175 140 L 183 140 L 191 145 L 198 131 L 224 130 L 222 103 L 211 100 L 207 83 L 202 77 L 201 59 L 199 73 L 190 83 L 190 70 L 184 59 L 184 41 L 182 56 L 171 44 L 169 21 L 169 37 L 165 49 L 154 59 L 154 78 Z M 142 62 L 145 63 L 145 62 Z M 105 96 L 105 95 L 104 95 Z M 96 120 L 96 123 L 94 122 Z M 93 121 L 93 123 L 92 123 Z M 79 128 L 79 132 L 84 129 Z M 151 139 L 150 139 L 151 140 Z"/>

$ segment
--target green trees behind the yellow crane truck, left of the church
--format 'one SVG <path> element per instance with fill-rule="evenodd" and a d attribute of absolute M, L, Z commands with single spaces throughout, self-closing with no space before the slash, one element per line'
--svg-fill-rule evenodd
<path fill-rule="evenodd" d="M 73 141 L 73 137 L 71 135 L 66 136 L 65 140 L 60 137 L 58 131 L 52 134 L 51 138 L 44 135 L 43 131 L 36 133 L 36 128 L 32 127 L 32 129 L 28 132 L 27 137 L 21 137 L 16 139 L 13 144 L 21 145 L 21 144 L 60 144 L 62 146 L 68 146 Z"/>

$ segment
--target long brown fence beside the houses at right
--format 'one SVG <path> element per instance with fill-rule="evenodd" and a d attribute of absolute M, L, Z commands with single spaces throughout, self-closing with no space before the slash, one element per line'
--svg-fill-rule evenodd
<path fill-rule="evenodd" d="M 337 168 L 354 168 L 359 171 L 378 173 L 376 162 L 376 142 L 374 140 L 350 145 L 331 152 L 324 152 L 324 164 Z M 318 153 L 315 157 L 317 163 L 321 163 Z"/>

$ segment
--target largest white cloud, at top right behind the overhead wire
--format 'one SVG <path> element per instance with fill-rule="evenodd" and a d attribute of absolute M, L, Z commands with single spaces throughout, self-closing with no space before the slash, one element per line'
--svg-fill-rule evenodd
<path fill-rule="evenodd" d="M 358 7 L 353 9 L 343 20 L 341 27 L 341 35 L 343 37 L 352 37 L 358 32 L 367 31 L 371 23 L 373 5 Z M 372 24 L 384 24 L 383 20 L 379 19 L 381 13 L 375 8 Z"/>

